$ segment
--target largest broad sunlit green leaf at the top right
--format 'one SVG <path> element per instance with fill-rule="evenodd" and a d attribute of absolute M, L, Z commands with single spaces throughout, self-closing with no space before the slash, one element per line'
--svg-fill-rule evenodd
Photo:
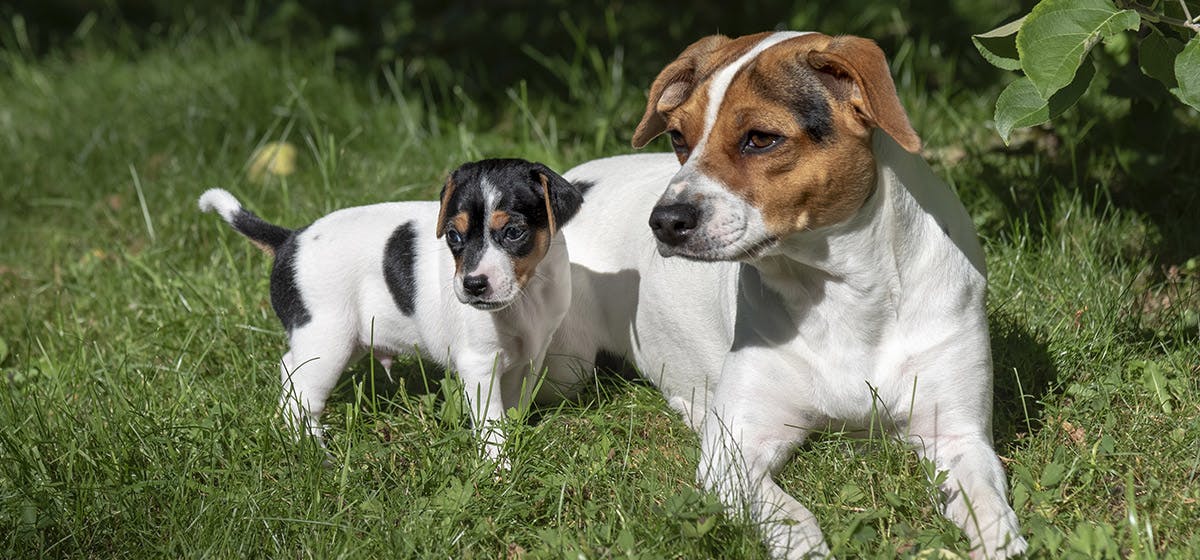
<path fill-rule="evenodd" d="M 1045 0 L 1016 32 L 1021 70 L 1048 100 L 1070 84 L 1097 42 L 1140 24 L 1138 12 L 1117 10 L 1111 0 Z"/>

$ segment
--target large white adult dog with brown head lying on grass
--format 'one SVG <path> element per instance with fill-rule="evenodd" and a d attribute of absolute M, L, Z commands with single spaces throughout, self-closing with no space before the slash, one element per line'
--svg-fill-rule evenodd
<path fill-rule="evenodd" d="M 552 367 L 632 360 L 700 432 L 698 480 L 774 556 L 829 549 L 773 475 L 810 433 L 872 424 L 948 474 L 972 555 L 1022 552 L 992 451 L 983 252 L 878 47 L 706 37 L 659 74 L 634 145 L 664 132 L 674 156 L 566 174 L 592 186 L 565 228 L 574 307 Z"/>

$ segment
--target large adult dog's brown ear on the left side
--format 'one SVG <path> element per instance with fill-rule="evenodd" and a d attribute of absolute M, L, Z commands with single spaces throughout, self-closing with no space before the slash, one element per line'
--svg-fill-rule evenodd
<path fill-rule="evenodd" d="M 701 78 L 697 76 L 700 62 L 728 41 L 730 38 L 724 35 L 709 35 L 691 43 L 683 53 L 679 53 L 679 58 L 674 62 L 668 64 L 666 68 L 662 68 L 662 72 L 659 72 L 659 77 L 650 85 L 650 95 L 646 101 L 646 114 L 642 115 L 642 122 L 634 131 L 634 147 L 644 146 L 667 130 L 662 113 L 679 107 L 680 103 L 688 101 L 688 97 L 691 97 L 692 90 L 696 89 L 696 82 Z"/>

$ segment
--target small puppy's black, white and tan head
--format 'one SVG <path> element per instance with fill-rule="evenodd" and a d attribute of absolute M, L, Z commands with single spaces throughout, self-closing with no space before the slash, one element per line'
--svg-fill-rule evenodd
<path fill-rule="evenodd" d="M 437 235 L 454 254 L 458 301 L 487 311 L 515 301 L 582 203 L 574 185 L 524 159 L 484 159 L 451 173 Z"/>

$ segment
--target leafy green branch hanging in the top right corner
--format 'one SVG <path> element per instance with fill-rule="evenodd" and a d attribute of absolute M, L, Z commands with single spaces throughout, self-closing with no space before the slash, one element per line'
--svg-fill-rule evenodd
<path fill-rule="evenodd" d="M 1128 42 L 1130 34 L 1141 72 L 1200 110 L 1200 16 L 1186 0 L 1043 0 L 1025 17 L 972 37 L 985 60 L 1024 74 L 996 100 L 996 132 L 1007 143 L 1014 128 L 1070 109 L 1096 77 L 1092 48 Z"/>

